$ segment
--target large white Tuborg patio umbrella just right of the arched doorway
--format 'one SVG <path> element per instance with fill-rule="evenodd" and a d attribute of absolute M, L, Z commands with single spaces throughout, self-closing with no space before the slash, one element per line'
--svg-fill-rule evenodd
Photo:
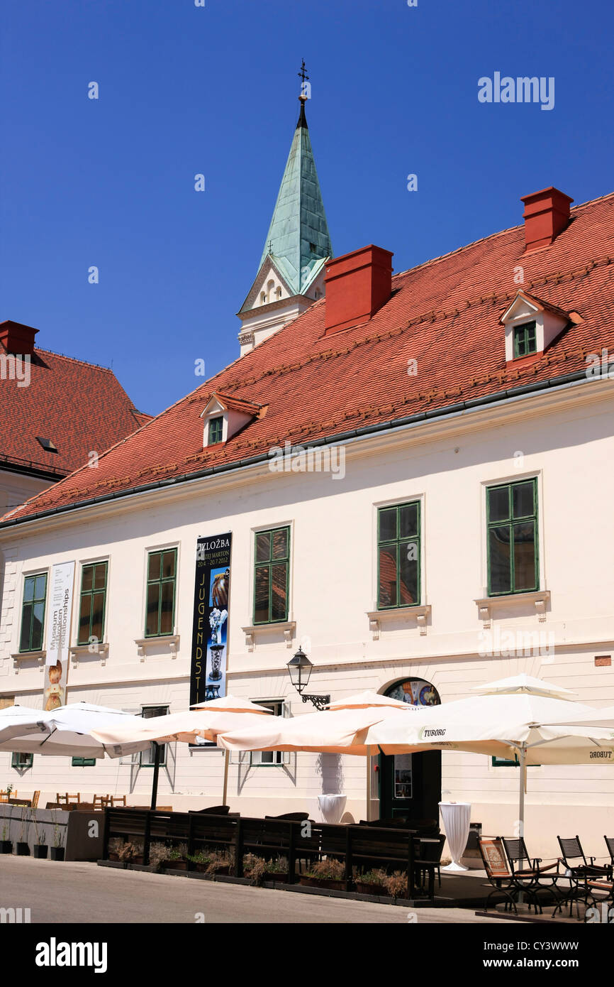
<path fill-rule="evenodd" d="M 600 752 L 614 751 L 614 737 L 606 730 L 553 725 L 590 715 L 592 707 L 553 698 L 548 683 L 531 685 L 526 679 L 491 683 L 493 692 L 426 708 L 419 719 L 377 723 L 366 742 L 385 754 L 462 750 L 508 759 L 517 755 L 522 835 L 527 764 L 603 764 Z"/>

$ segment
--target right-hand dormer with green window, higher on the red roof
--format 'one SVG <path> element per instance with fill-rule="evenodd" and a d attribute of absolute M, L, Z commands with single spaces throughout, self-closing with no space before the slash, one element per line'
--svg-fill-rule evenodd
<path fill-rule="evenodd" d="M 570 325 L 568 312 L 518 291 L 501 317 L 506 331 L 506 362 L 543 353 Z"/>

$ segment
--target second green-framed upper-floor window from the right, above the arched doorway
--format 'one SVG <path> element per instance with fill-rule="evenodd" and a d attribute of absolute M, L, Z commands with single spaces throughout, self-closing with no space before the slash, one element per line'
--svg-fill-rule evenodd
<path fill-rule="evenodd" d="M 419 606 L 421 502 L 377 508 L 377 610 Z"/>

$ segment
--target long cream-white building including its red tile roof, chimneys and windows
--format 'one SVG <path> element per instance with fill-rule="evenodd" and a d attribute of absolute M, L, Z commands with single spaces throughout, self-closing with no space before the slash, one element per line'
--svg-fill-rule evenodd
<path fill-rule="evenodd" d="M 1 519 L 3 705 L 42 706 L 48 583 L 74 563 L 68 701 L 185 710 L 196 546 L 226 533 L 226 689 L 276 715 L 312 710 L 287 668 L 299 645 L 307 692 L 334 700 L 369 689 L 445 703 L 526 672 L 612 705 L 614 370 L 607 358 L 589 368 L 608 346 L 614 367 L 614 197 L 578 207 L 569 229 L 557 218 L 567 200 L 569 223 L 569 196 L 527 200 L 524 229 L 394 279 L 373 246 L 326 260 L 325 298 L 294 323 L 98 472 Z M 0 754 L 0 785 L 39 790 L 41 805 L 57 792 L 143 805 L 150 762 Z M 229 801 L 244 815 L 318 817 L 317 797 L 338 793 L 349 822 L 432 818 L 445 797 L 471 802 L 485 834 L 515 831 L 511 764 L 374 758 L 369 806 L 367 770 L 351 756 L 234 755 Z M 159 803 L 218 804 L 223 776 L 220 750 L 169 744 Z M 603 856 L 613 828 L 610 765 L 528 769 L 531 853 L 557 856 L 560 832 Z"/>

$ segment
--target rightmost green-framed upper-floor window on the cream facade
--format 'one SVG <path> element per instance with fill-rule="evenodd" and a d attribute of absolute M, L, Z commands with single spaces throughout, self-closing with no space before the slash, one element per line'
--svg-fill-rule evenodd
<path fill-rule="evenodd" d="M 488 595 L 539 589 L 537 478 L 486 490 Z"/>

